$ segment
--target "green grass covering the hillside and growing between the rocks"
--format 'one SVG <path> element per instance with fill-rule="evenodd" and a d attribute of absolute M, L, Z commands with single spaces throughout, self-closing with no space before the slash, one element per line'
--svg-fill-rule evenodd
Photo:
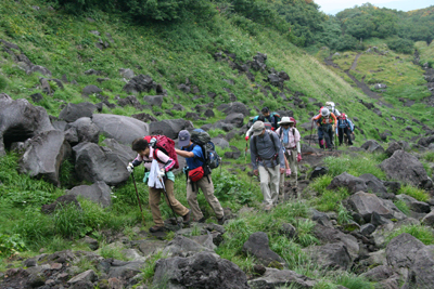
<path fill-rule="evenodd" d="M 35 6 L 38 6 L 38 9 Z M 359 119 L 356 126 L 365 131 L 366 139 L 379 140 L 379 133 L 385 129 L 392 132 L 394 139 L 405 140 L 410 140 L 423 132 L 421 126 L 417 123 L 409 123 L 413 128 L 412 131 L 403 131 L 407 123 L 396 122 L 392 116 L 399 116 L 409 120 L 417 118 L 431 127 L 431 119 L 426 116 L 433 113 L 433 108 L 424 107 L 421 104 L 414 104 L 408 108 L 401 107 L 396 101 L 396 93 L 399 93 L 400 97 L 416 101 L 423 98 L 425 95 L 424 91 L 419 90 L 423 71 L 418 66 L 411 65 L 411 56 L 408 55 L 393 53 L 385 57 L 366 55 L 369 63 L 379 65 L 379 67 L 382 66 L 384 70 L 388 67 L 395 68 L 395 61 L 393 61 L 395 56 L 400 57 L 396 62 L 403 61 L 396 66 L 398 70 L 387 70 L 386 75 L 370 73 L 366 77 L 366 81 L 370 79 L 370 84 L 381 81 L 386 82 L 391 88 L 384 94 L 383 101 L 390 102 L 394 107 L 380 106 L 380 110 L 383 113 L 383 116 L 380 117 L 359 102 L 376 103 L 378 100 L 370 98 L 350 82 L 348 83 L 347 77 L 341 70 L 326 67 L 322 64 L 322 56 L 324 55 L 317 60 L 292 44 L 291 36 L 288 34 L 282 35 L 245 17 L 227 15 L 222 9 L 216 10 L 207 18 L 192 17 L 177 22 L 137 24 L 123 14 L 92 10 L 79 16 L 73 16 L 62 10 L 50 8 L 46 1 L 22 0 L 20 2 L 1 1 L 0 14 L 0 39 L 17 44 L 34 64 L 49 68 L 53 78 L 61 79 L 65 75 L 68 81 L 76 80 L 78 83 L 64 82 L 64 89 L 60 89 L 51 82 L 51 88 L 54 92 L 52 95 L 47 95 L 42 93 L 40 88 L 40 75 L 27 75 L 13 62 L 9 53 L 1 51 L 0 93 L 4 92 L 14 100 L 26 98 L 30 103 L 34 103 L 30 97 L 31 94 L 42 93 L 43 100 L 40 103 L 35 103 L 35 105 L 43 106 L 54 117 L 59 116 L 65 103 L 101 102 L 97 95 L 88 97 L 81 95 L 82 89 L 88 84 L 95 84 L 102 89 L 101 95 L 111 103 L 116 103 L 117 97 L 125 98 L 128 96 L 123 91 L 126 82 L 119 75 L 118 69 L 131 68 L 136 75 L 151 76 L 157 83 L 163 86 L 163 89 L 167 90 L 167 96 L 164 97 L 162 107 L 154 107 L 153 110 L 137 110 L 130 106 L 113 109 L 104 107 L 103 113 L 126 116 L 149 113 L 155 115 L 158 120 L 163 120 L 183 118 L 186 113 L 195 111 L 193 108 L 195 105 L 214 102 L 216 116 L 206 120 L 193 121 L 195 127 L 200 127 L 225 117 L 216 107 L 219 104 L 229 102 L 230 96 L 225 89 L 230 89 L 238 101 L 248 105 L 252 109 L 252 116 L 257 114 L 255 106 L 259 108 L 269 106 L 271 109 L 291 109 L 299 123 L 309 121 L 309 113 L 316 114 L 318 111 L 318 107 L 314 106 L 309 98 L 316 98 L 322 103 L 334 101 L 339 103 L 337 108 L 342 113 Z M 95 30 L 100 36 L 95 35 Z M 101 50 L 95 47 L 100 39 L 108 43 L 106 49 Z M 295 106 L 292 100 L 282 101 L 279 96 L 275 98 L 271 93 L 268 96 L 265 95 L 260 87 L 269 86 L 271 92 L 280 92 L 278 88 L 270 86 L 266 81 L 268 73 L 251 69 L 251 73 L 255 76 L 255 81 L 252 82 L 245 74 L 239 74 L 238 70 L 233 70 L 227 61 L 215 61 L 213 55 L 220 51 L 227 55 L 234 53 L 235 57 L 232 61 L 238 63 L 245 63 L 252 60 L 257 52 L 266 53 L 268 68 L 275 68 L 278 71 L 284 70 L 291 78 L 285 81 L 283 90 L 286 97 L 302 93 L 301 98 L 305 108 Z M 16 53 L 18 52 L 16 51 Z M 329 51 L 321 51 L 321 53 L 329 55 Z M 344 54 L 344 56 L 335 60 L 345 69 L 350 66 L 354 56 L 353 53 L 347 54 L 348 57 Z M 365 60 L 365 55 L 362 60 Z M 88 69 L 100 70 L 102 75 L 86 75 L 85 71 Z M 376 69 L 371 68 L 369 65 L 360 64 L 357 68 L 359 73 L 356 71 L 355 76 L 361 79 L 362 75 L 368 74 L 367 70 Z M 100 83 L 97 80 L 98 78 L 108 79 Z M 193 86 L 197 87 L 199 93 L 187 94 L 178 89 L 178 86 L 184 83 L 187 78 Z M 233 80 L 234 84 L 229 84 L 225 80 Z M 410 84 L 407 84 L 407 82 Z M 409 90 L 403 93 L 403 89 L 407 89 L 407 87 Z M 208 96 L 208 93 L 212 92 L 217 94 L 214 100 Z M 149 94 L 155 95 L 156 92 L 151 91 Z M 142 101 L 143 95 L 137 95 L 142 104 L 144 104 Z M 187 111 L 173 109 L 173 105 L 176 103 L 186 106 Z M 245 121 L 247 121 L 247 117 Z M 214 130 L 209 133 L 212 136 L 216 136 L 222 131 Z M 307 134 L 308 132 L 303 132 L 303 135 Z M 362 144 L 365 137 L 357 136 L 356 144 Z M 245 141 L 241 135 L 232 139 L 230 144 L 244 150 Z M 219 149 L 219 153 L 222 154 L 224 150 Z M 366 160 L 373 166 L 382 157 L 376 159 L 367 156 L 363 161 Z M 62 183 L 64 186 L 56 188 L 43 181 L 20 175 L 15 170 L 17 159 L 18 156 L 12 153 L 0 159 L 0 181 L 2 183 L 0 185 L 0 211 L 2 212 L 0 214 L 0 223 L 2 224 L 0 237 L 5 238 L 4 236 L 8 235 L 8 239 L 16 236 L 26 247 L 27 252 L 25 255 L 37 254 L 41 248 L 47 251 L 66 248 L 80 249 L 84 248 L 84 245 L 76 241 L 79 237 L 88 234 L 99 240 L 103 240 L 107 229 L 122 231 L 125 235 L 131 236 L 131 238 L 137 237 L 137 234 L 132 232 L 132 227 L 138 226 L 141 215 L 137 208 L 136 193 L 131 182 L 113 189 L 114 205 L 111 209 L 103 210 L 91 202 L 82 200 L 84 214 L 79 216 L 74 214 L 74 208 L 62 210 L 58 214 L 49 216 L 40 213 L 40 206 L 63 195 L 65 188 L 76 185 L 71 175 L 73 171 L 72 165 L 66 163 L 62 168 Z M 246 156 L 246 159 L 248 162 L 250 157 Z M 222 207 L 229 207 L 233 211 L 238 211 L 244 205 L 258 207 L 263 197 L 259 186 L 255 184 L 252 186 L 252 179 L 246 174 L 248 169 L 244 170 L 246 167 L 244 155 L 242 154 L 240 159 L 225 161 L 229 161 L 230 165 L 226 162 L 221 174 L 216 174 L 214 179 L 214 182 L 220 185 L 219 187 L 216 186 L 216 195 L 222 201 Z M 357 171 L 358 175 L 360 175 L 365 173 L 361 169 L 366 168 L 367 163 L 359 163 L 355 167 L 355 171 L 360 168 Z M 228 168 L 232 170 L 229 171 Z M 136 170 L 135 174 L 136 179 L 140 180 L 143 172 Z M 330 179 L 330 176 L 328 178 Z M 331 180 L 329 179 L 323 180 L 330 183 Z M 245 227 L 248 228 L 245 232 L 265 228 L 273 229 L 277 224 L 281 224 L 284 221 L 290 222 L 288 220 L 291 220 L 305 234 L 296 242 L 291 241 L 291 250 L 284 249 L 289 248 L 290 245 L 279 239 L 277 235 L 271 236 L 271 242 L 276 244 L 273 245 L 275 249 L 281 250 L 282 254 L 285 254 L 285 258 L 290 260 L 293 252 L 301 252 L 302 248 L 317 241 L 309 235 L 312 227 L 311 222 L 309 220 L 301 222 L 297 218 L 306 218 L 309 206 L 323 211 L 333 209 L 337 211 L 340 201 L 347 196 L 347 192 L 326 191 L 324 187 L 328 184 L 323 180 L 322 183 L 317 184 L 320 193 L 318 198 L 312 197 L 311 203 L 292 203 L 291 206 L 295 207 L 290 208 L 292 210 L 291 213 L 283 208 L 276 211 L 275 214 L 268 215 L 267 220 L 278 220 L 272 227 L 267 227 L 266 222 L 259 222 L 263 221 L 261 218 L 265 218 L 264 214 L 259 214 L 257 219 L 250 218 L 247 214 L 245 219 L 231 223 L 229 232 L 242 234 L 244 231 L 240 231 L 240 228 Z M 142 183 L 138 185 L 141 199 L 148 200 L 145 185 Z M 183 176 L 178 178 L 175 184 L 176 196 L 182 203 L 187 203 L 184 186 Z M 237 187 L 235 193 L 233 193 L 232 187 Z M 203 195 L 200 195 L 199 200 L 201 208 L 205 210 L 205 215 L 214 215 L 210 208 L 205 206 L 206 201 Z M 165 205 L 162 208 L 163 218 L 169 218 L 169 208 Z M 341 213 L 345 215 L 345 209 L 342 206 Z M 148 226 L 141 226 L 142 229 L 152 224 L 151 213 L 148 210 L 145 210 L 145 219 Z M 71 222 L 71 220 L 74 220 L 74 222 Z M 68 229 L 65 229 L 65 227 Z M 239 248 L 240 244 L 247 235 L 234 236 L 233 240 L 237 244 L 227 242 L 226 247 L 219 249 L 219 253 L 250 272 L 253 266 L 252 259 L 245 259 L 239 254 L 241 250 Z M 170 237 L 173 235 L 168 238 Z M 118 258 L 118 255 L 105 253 L 104 258 L 108 257 Z M 309 276 L 311 277 L 323 277 L 322 275 L 319 276 L 314 264 L 306 265 L 305 261 L 305 259 L 292 260 L 292 263 L 290 263 L 299 273 L 310 274 Z M 0 271 L 4 271 L 5 263 L 0 262 Z M 341 275 L 335 278 L 345 279 Z M 345 286 L 344 281 L 336 281 L 335 284 Z M 331 287 L 324 286 L 323 288 Z"/>

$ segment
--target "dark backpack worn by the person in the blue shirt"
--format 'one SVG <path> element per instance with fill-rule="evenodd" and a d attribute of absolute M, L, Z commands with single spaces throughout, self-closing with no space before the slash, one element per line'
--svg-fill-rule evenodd
<path fill-rule="evenodd" d="M 210 136 L 206 131 L 202 129 L 193 130 L 190 140 L 202 148 L 202 154 L 204 155 L 203 162 L 205 166 L 212 170 L 220 166 L 221 158 L 217 154 L 216 146 L 210 141 Z"/>

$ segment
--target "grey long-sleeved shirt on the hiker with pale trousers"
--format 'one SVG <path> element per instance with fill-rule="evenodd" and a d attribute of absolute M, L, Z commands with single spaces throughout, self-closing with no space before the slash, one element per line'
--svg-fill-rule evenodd
<path fill-rule="evenodd" d="M 278 157 L 275 159 L 276 154 Z M 267 168 L 280 165 L 280 168 L 284 169 L 283 148 L 275 132 L 266 130 L 263 135 L 251 139 L 251 161 L 254 170 L 257 170 L 258 165 Z"/>

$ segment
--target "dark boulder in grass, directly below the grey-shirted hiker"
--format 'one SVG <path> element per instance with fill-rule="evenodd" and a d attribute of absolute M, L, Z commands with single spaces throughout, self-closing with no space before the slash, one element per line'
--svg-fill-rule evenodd
<path fill-rule="evenodd" d="M 268 244 L 268 236 L 264 232 L 256 232 L 248 237 L 243 245 L 243 252 L 254 255 L 264 266 L 275 262 L 283 262 L 283 259 L 271 251 Z"/>

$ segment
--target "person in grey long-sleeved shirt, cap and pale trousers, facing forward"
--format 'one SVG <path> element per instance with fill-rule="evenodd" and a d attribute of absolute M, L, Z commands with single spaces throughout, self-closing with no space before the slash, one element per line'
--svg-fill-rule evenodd
<path fill-rule="evenodd" d="M 264 195 L 265 210 L 278 203 L 280 175 L 285 172 L 284 157 L 279 136 L 266 130 L 263 121 L 253 126 L 251 137 L 251 161 L 253 173 L 259 174 L 260 191 Z"/>

